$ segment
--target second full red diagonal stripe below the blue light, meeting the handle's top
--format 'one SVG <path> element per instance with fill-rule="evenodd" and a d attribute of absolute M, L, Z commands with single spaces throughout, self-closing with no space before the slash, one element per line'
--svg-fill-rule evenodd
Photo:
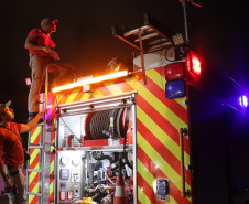
<path fill-rule="evenodd" d="M 166 132 L 167 136 L 170 136 L 177 144 L 180 144 L 178 130 L 175 129 L 174 126 L 172 126 L 140 95 L 137 95 L 137 104 L 164 132 Z M 187 154 L 190 154 L 190 143 L 185 137 L 184 137 L 184 150 Z"/>

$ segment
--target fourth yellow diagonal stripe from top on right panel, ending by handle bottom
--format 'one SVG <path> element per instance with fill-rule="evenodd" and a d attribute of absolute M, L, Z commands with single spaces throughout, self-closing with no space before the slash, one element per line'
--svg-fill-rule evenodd
<path fill-rule="evenodd" d="M 147 152 L 149 158 L 151 158 L 151 160 L 160 168 L 160 170 L 165 175 L 167 175 L 167 178 L 181 191 L 181 176 L 175 172 L 175 170 L 158 153 L 158 151 L 139 132 L 137 133 L 137 137 L 138 137 L 138 146 L 144 152 Z M 142 173 L 140 173 L 140 174 L 142 175 Z M 186 185 L 187 189 L 191 189 L 187 183 L 185 183 L 185 185 Z"/>

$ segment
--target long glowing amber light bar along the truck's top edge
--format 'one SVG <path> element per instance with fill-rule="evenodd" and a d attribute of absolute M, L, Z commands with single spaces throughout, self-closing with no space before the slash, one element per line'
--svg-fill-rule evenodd
<path fill-rule="evenodd" d="M 53 88 L 52 92 L 58 93 L 58 92 L 62 92 L 62 90 L 67 90 L 67 89 L 84 86 L 84 85 L 89 85 L 89 84 L 95 84 L 95 83 L 99 83 L 99 82 L 104 82 L 104 80 L 119 78 L 119 77 L 127 76 L 127 75 L 128 75 L 128 71 L 121 71 L 121 72 L 111 73 L 111 74 L 108 74 L 108 75 L 98 76 L 98 77 L 95 77 L 95 78 L 88 78 L 88 79 L 80 80 L 80 82 L 73 83 L 73 84 L 67 84 L 67 85 L 64 85 L 64 86 L 58 86 L 58 87 Z"/>

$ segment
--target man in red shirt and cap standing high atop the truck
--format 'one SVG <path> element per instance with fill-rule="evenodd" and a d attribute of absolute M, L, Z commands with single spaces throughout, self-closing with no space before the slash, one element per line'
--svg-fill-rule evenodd
<path fill-rule="evenodd" d="M 74 65 L 59 61 L 56 44 L 51 39 L 51 33 L 56 32 L 57 22 L 57 19 L 43 19 L 41 29 L 33 29 L 25 40 L 24 47 L 29 50 L 29 65 L 32 69 L 28 121 L 32 120 L 39 112 L 39 95 L 47 65 L 50 65 L 50 73 L 57 74 L 55 86 L 73 83 L 75 78 Z"/>

